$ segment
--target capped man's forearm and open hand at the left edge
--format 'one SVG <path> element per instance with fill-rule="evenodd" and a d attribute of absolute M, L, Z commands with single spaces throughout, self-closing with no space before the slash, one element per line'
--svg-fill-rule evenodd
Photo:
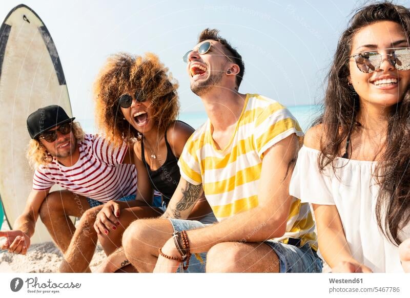
<path fill-rule="evenodd" d="M 6 241 L 1 245 L 2 249 L 8 249 L 9 252 L 26 254 L 30 246 L 30 238 L 34 234 L 38 211 L 49 191 L 31 190 L 23 214 L 14 223 L 15 229 L 0 232 L 0 237 L 6 237 Z"/>

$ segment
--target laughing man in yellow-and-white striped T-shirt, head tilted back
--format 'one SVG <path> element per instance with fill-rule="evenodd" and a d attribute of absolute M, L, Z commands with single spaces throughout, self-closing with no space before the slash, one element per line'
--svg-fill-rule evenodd
<path fill-rule="evenodd" d="M 208 252 L 207 272 L 321 272 L 309 204 L 289 195 L 299 124 L 277 101 L 238 92 L 242 57 L 217 30 L 202 31 L 184 60 L 209 119 L 185 145 L 162 219 L 125 231 L 128 260 L 139 272 L 175 272 Z M 186 220 L 202 191 L 218 223 Z"/>

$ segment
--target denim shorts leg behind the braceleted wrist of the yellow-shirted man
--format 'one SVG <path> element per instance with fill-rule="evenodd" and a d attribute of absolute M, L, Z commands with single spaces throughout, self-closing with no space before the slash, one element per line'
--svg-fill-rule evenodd
<path fill-rule="evenodd" d="M 211 225 L 212 223 L 216 222 L 216 218 L 213 213 L 207 215 L 206 217 L 197 220 L 185 220 L 185 219 L 169 219 L 174 231 L 183 231 L 183 230 L 194 230 L 203 228 L 206 226 Z M 200 259 L 199 260 L 195 254 L 191 256 L 189 259 L 189 266 L 188 269 L 183 271 L 184 273 L 204 273 L 205 272 L 205 265 L 207 261 L 207 253 L 201 252 L 199 253 Z M 180 272 L 180 268 L 177 272 Z"/>

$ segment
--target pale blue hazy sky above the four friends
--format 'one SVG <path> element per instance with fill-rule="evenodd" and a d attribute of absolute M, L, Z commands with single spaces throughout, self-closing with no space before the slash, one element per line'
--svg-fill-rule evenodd
<path fill-rule="evenodd" d="M 0 18 L 21 3 L 2 0 Z M 157 54 L 179 82 L 181 112 L 204 111 L 190 90 L 182 56 L 207 27 L 219 29 L 242 55 L 241 93 L 259 93 L 288 107 L 318 103 L 340 33 L 364 3 L 369 1 L 24 2 L 54 40 L 77 119 L 94 118 L 94 80 L 118 52 Z M 394 3 L 409 6 L 408 0 Z"/>

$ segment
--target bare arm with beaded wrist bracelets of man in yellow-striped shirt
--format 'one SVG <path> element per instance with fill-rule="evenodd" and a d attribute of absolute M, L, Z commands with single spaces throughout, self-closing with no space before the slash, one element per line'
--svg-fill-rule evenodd
<path fill-rule="evenodd" d="M 277 142 L 264 153 L 259 180 L 258 206 L 220 223 L 189 230 L 192 253 L 208 251 L 221 242 L 259 242 L 283 236 L 292 197 L 289 183 L 299 148 L 295 134 Z M 179 256 L 170 239 L 162 251 Z M 167 253 L 168 252 L 168 253 Z"/>

